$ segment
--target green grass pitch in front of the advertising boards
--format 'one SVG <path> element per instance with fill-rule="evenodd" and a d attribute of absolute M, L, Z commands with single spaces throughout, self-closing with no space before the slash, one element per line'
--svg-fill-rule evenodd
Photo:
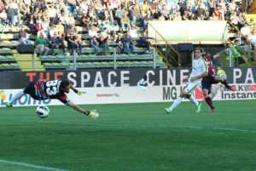
<path fill-rule="evenodd" d="M 101 113 L 96 121 L 63 105 L 46 119 L 35 107 L 1 108 L 0 159 L 72 171 L 255 171 L 255 100 L 215 103 L 213 115 L 189 103 L 170 115 L 167 103 L 84 105 Z"/>

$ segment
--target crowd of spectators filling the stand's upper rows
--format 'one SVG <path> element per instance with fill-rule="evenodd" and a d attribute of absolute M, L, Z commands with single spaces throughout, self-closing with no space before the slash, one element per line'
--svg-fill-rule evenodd
<path fill-rule="evenodd" d="M 256 45 L 236 0 L 0 0 L 0 27 L 20 26 L 20 43 L 33 43 L 37 54 L 81 54 L 78 24 L 96 54 L 109 54 L 110 41 L 118 54 L 132 54 L 135 45 L 149 50 L 148 20 L 229 20 L 234 33 Z"/>

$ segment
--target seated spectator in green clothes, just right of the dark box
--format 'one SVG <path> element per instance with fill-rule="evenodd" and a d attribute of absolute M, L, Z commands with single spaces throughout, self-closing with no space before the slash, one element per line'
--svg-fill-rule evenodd
<path fill-rule="evenodd" d="M 40 31 L 35 41 L 35 53 L 38 55 L 49 54 L 48 43 L 49 43 L 48 38 L 45 37 L 43 31 Z"/>

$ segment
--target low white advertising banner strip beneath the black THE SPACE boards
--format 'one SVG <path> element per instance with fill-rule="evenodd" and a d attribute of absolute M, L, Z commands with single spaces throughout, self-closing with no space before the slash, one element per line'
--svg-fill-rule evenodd
<path fill-rule="evenodd" d="M 235 84 L 236 92 L 231 92 L 225 88 L 220 88 L 214 100 L 255 100 L 256 84 Z M 214 85 L 216 86 L 216 85 Z M 79 88 L 82 95 L 67 94 L 68 99 L 79 105 L 86 104 L 115 104 L 115 103 L 148 103 L 148 102 L 167 102 L 177 98 L 180 94 L 181 86 L 149 86 L 147 89 L 133 87 L 108 87 L 108 88 Z M 0 95 L 0 106 L 20 91 L 20 89 L 3 89 Z M 201 88 L 195 89 L 197 100 L 203 100 Z M 17 100 L 15 106 L 27 105 L 61 105 L 58 100 L 33 100 L 28 94 Z"/>

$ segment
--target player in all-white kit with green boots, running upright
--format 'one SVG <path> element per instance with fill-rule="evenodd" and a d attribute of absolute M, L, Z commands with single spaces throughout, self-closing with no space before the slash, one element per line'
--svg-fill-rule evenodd
<path fill-rule="evenodd" d="M 196 87 L 201 85 L 202 77 L 207 76 L 207 65 L 202 57 L 202 49 L 195 49 L 195 59 L 192 63 L 192 71 L 189 76 L 188 83 L 184 86 L 179 97 L 172 103 L 169 108 L 166 108 L 167 114 L 173 111 L 177 105 L 181 104 L 184 99 L 189 99 L 192 104 L 196 106 L 196 112 L 201 111 L 201 103 L 195 100 L 194 90 Z"/>

